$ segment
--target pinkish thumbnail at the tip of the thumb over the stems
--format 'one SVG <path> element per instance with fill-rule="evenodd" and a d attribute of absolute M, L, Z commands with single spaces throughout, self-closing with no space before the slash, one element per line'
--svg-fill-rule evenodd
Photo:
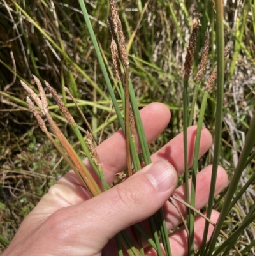
<path fill-rule="evenodd" d="M 146 176 L 159 192 L 169 190 L 177 183 L 177 174 L 170 163 L 159 161 L 152 163 L 146 172 Z"/>

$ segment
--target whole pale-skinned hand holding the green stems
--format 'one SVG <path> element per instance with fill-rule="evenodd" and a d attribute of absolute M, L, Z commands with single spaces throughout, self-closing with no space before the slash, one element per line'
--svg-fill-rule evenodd
<path fill-rule="evenodd" d="M 156 139 L 170 121 L 169 109 L 161 103 L 152 103 L 141 110 L 147 141 Z M 193 160 L 196 127 L 188 129 L 189 166 Z M 200 157 L 208 151 L 212 137 L 203 128 L 200 143 Z M 138 144 L 137 144 L 138 145 Z M 97 147 L 103 165 L 106 181 L 110 184 L 115 174 L 126 167 L 125 142 L 118 131 Z M 168 198 L 173 193 L 185 200 L 184 186 L 177 186 L 177 177 L 184 172 L 183 135 L 172 139 L 166 146 L 152 155 L 152 165 L 144 167 L 123 183 L 89 198 L 87 190 L 74 172 L 63 176 L 50 188 L 38 205 L 25 218 L 10 246 L 3 256 L 23 255 L 118 255 L 113 238 L 121 230 L 135 235 L 128 229 L 137 222 L 149 230 L 145 220 L 160 207 L 164 207 L 168 230 L 182 222 L 179 213 Z M 87 160 L 85 163 L 89 167 Z M 90 167 L 89 167 L 90 168 Z M 198 174 L 196 208 L 208 202 L 212 166 L 205 167 Z M 226 186 L 228 177 L 222 167 L 218 168 L 215 195 Z M 186 207 L 175 202 L 186 215 Z M 212 212 L 212 222 L 217 222 L 219 213 Z M 201 245 L 203 218 L 196 218 L 195 248 Z M 213 227 L 210 225 L 209 236 Z M 113 238 L 113 239 L 112 239 Z M 187 255 L 186 230 L 179 229 L 170 235 L 173 256 Z M 156 255 L 145 243 L 146 255 Z"/>

